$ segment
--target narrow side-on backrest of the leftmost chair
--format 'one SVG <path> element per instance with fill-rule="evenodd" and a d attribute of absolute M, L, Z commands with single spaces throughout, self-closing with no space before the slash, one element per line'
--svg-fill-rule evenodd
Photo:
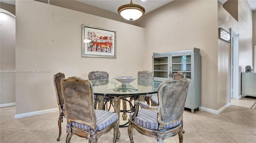
<path fill-rule="evenodd" d="M 55 86 L 55 91 L 56 91 L 57 103 L 60 106 L 62 106 L 64 104 L 64 99 L 63 99 L 61 86 L 60 86 L 60 80 L 62 78 L 65 78 L 64 73 L 59 72 L 59 73 L 53 75 L 53 81 L 54 81 L 54 86 Z"/>

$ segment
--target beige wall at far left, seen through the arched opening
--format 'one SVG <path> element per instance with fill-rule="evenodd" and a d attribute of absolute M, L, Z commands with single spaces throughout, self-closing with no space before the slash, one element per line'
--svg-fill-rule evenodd
<path fill-rule="evenodd" d="M 0 105 L 15 105 L 15 16 L 3 10 L 0 27 Z M 2 17 L 3 16 L 3 17 Z M 3 71 L 2 71 L 3 70 Z M 8 71 L 5 71 L 8 70 Z"/>

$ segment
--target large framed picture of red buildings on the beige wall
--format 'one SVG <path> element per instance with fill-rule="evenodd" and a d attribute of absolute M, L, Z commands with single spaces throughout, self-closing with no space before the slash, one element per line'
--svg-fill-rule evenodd
<path fill-rule="evenodd" d="M 116 30 L 82 24 L 82 57 L 116 58 Z"/>

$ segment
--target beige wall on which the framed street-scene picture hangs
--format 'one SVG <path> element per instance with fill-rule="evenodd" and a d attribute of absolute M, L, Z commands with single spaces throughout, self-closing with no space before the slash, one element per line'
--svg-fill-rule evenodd
<path fill-rule="evenodd" d="M 81 57 L 82 24 L 117 30 L 117 58 Z M 16 114 L 57 108 L 53 75 L 136 76 L 145 68 L 144 28 L 36 1 L 16 1 Z M 151 63 L 151 60 L 150 60 Z"/>

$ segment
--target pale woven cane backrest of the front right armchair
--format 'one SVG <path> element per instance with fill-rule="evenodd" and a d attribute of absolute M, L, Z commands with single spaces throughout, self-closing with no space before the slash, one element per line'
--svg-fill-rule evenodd
<path fill-rule="evenodd" d="M 182 120 L 190 79 L 162 82 L 158 87 L 159 127 Z"/>

